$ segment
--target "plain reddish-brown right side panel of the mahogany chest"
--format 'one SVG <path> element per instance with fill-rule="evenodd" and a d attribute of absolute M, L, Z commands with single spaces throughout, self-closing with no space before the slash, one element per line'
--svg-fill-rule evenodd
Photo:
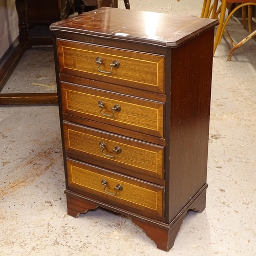
<path fill-rule="evenodd" d="M 206 184 L 213 39 L 214 29 L 172 49 L 170 219 Z"/>

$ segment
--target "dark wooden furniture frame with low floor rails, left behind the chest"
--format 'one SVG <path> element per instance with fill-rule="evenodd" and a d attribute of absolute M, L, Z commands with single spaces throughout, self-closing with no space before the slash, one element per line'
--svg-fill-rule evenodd
<path fill-rule="evenodd" d="M 0 70 L 0 92 L 26 50 L 36 45 L 52 45 L 52 38 L 31 38 L 29 26 L 50 25 L 66 18 L 74 10 L 73 0 L 16 0 L 18 14 L 18 45 Z M 0 104 L 57 103 L 57 93 L 0 94 Z"/>

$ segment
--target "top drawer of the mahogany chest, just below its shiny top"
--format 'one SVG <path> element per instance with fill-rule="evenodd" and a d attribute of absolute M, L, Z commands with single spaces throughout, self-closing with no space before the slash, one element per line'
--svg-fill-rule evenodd
<path fill-rule="evenodd" d="M 57 44 L 60 73 L 165 93 L 164 56 L 65 40 L 58 40 Z M 98 57 L 100 66 L 96 62 Z M 119 63 L 118 68 L 111 66 L 115 61 Z"/>

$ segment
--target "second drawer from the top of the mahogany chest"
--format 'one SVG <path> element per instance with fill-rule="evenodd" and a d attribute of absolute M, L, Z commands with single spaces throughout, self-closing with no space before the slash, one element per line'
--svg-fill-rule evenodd
<path fill-rule="evenodd" d="M 67 83 L 61 94 L 65 114 L 163 137 L 164 103 Z"/>

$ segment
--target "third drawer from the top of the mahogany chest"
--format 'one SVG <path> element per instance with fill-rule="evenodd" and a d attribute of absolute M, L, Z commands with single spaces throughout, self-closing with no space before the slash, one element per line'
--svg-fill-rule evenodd
<path fill-rule="evenodd" d="M 164 147 L 63 122 L 65 150 L 156 178 L 163 178 Z"/>

